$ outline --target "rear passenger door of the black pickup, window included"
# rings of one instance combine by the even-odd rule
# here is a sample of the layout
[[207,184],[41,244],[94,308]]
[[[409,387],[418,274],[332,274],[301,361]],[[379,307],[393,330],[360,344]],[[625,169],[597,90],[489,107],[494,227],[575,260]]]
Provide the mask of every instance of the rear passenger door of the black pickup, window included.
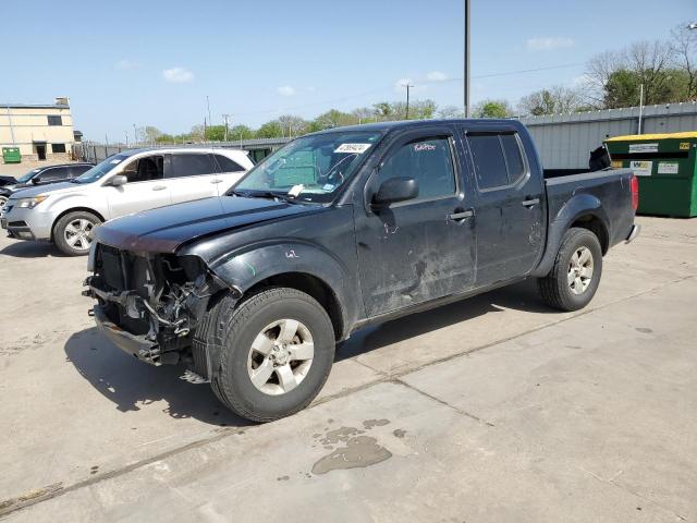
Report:
[[542,250],[542,180],[514,129],[466,133],[477,199],[477,287],[527,275]]

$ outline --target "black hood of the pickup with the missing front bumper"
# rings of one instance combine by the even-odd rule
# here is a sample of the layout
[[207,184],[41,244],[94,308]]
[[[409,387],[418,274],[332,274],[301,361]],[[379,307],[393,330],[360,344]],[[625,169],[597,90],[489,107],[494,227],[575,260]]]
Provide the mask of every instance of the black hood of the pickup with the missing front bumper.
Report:
[[95,238],[125,251],[173,253],[185,242],[209,234],[316,209],[273,199],[222,196],[117,218],[96,228]]

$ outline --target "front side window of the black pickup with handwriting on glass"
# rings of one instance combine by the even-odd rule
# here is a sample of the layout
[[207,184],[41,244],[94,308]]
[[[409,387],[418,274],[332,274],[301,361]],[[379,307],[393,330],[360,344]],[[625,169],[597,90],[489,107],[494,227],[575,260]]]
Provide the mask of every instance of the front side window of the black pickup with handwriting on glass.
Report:
[[416,200],[454,195],[457,190],[448,137],[419,138],[393,151],[378,171],[378,186],[391,178],[413,178]]

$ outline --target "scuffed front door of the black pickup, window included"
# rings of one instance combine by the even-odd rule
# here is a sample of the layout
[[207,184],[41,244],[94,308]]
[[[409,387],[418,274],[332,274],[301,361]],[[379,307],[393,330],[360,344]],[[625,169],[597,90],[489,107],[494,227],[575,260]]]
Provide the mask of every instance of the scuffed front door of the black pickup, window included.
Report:
[[360,288],[368,317],[455,294],[474,283],[469,196],[449,127],[412,132],[389,148],[366,184],[418,183],[416,199],[381,210],[356,208]]

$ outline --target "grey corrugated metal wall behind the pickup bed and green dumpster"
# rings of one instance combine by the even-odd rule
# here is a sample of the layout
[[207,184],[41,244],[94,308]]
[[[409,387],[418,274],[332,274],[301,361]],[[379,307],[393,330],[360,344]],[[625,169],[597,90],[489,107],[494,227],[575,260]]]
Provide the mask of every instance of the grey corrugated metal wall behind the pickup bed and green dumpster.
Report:
[[[636,134],[639,108],[524,117],[546,169],[585,169],[589,153],[602,141]],[[643,133],[697,131],[697,102],[648,106],[644,108]]]

